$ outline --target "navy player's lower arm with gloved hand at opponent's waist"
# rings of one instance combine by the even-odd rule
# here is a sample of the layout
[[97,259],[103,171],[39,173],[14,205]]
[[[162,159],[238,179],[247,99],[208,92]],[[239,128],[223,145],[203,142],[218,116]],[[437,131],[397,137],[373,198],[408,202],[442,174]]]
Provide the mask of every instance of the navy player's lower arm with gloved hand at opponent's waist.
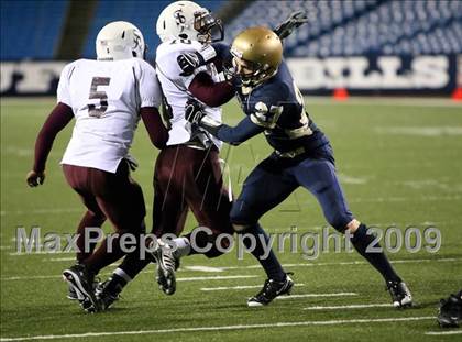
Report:
[[194,99],[189,99],[186,103],[185,117],[190,123],[201,126],[210,134],[231,145],[239,145],[264,131],[264,128],[253,123],[249,117],[233,128],[222,124],[207,117],[200,103]]

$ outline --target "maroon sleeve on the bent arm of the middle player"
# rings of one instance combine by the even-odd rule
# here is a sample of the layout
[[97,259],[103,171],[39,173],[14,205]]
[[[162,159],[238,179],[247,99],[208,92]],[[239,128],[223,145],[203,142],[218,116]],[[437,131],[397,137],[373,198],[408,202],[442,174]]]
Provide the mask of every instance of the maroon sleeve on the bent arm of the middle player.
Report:
[[215,82],[207,73],[199,73],[189,85],[188,90],[195,98],[209,107],[220,107],[234,97],[234,87],[228,82]]

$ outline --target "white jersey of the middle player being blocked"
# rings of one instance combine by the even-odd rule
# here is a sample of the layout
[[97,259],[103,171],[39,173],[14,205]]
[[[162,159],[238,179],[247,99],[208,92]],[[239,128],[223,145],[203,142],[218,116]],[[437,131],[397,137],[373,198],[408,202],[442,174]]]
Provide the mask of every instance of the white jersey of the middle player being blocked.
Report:
[[[158,80],[162,85],[162,91],[166,98],[167,104],[170,108],[169,121],[170,130],[168,131],[167,145],[183,144],[197,135],[199,132],[191,132],[190,124],[185,119],[186,101],[193,95],[188,91],[195,75],[200,71],[208,73],[215,81],[222,81],[223,78],[217,73],[213,64],[204,66],[195,71],[191,76],[182,76],[182,68],[178,66],[177,57],[185,52],[197,52],[202,49],[199,42],[188,40],[175,40],[164,42],[157,47],[156,52],[156,71]],[[215,120],[221,122],[221,109],[205,107],[206,113]],[[204,132],[204,131],[202,131]],[[217,146],[221,147],[221,141],[208,136],[205,133],[198,135],[211,140]],[[202,139],[201,139],[202,140]]]

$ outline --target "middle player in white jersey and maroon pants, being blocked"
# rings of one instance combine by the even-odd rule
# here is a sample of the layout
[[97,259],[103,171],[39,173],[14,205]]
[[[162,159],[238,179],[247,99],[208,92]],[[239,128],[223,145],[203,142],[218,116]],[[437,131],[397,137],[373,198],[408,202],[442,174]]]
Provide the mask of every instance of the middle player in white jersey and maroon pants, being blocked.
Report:
[[[157,35],[162,44],[156,51],[156,73],[164,93],[166,118],[169,125],[167,146],[157,157],[154,172],[153,233],[162,236],[166,233],[179,235],[184,229],[188,208],[200,227],[207,227],[211,234],[204,231],[191,233],[174,240],[176,251],[168,247],[157,249],[154,256],[157,261],[157,283],[165,294],[175,293],[175,267],[180,256],[201,253],[216,257],[222,253],[215,241],[219,233],[232,234],[229,220],[231,200],[223,186],[219,162],[221,142],[202,130],[194,130],[185,119],[185,104],[190,96],[202,102],[212,103],[215,98],[234,96],[232,86],[224,81],[220,60],[207,64],[195,75],[186,76],[177,64],[177,57],[188,52],[200,52],[207,59],[215,57],[216,52],[210,43],[222,38],[222,27],[208,10],[191,1],[177,1],[167,5],[156,23]],[[208,56],[208,53],[212,56]],[[217,68],[218,66],[218,68]],[[200,80],[200,82],[198,81]],[[217,86],[213,92],[207,82]],[[221,100],[221,99],[220,99]],[[208,115],[221,121],[221,109],[206,107]],[[191,235],[195,235],[191,244]],[[211,250],[202,253],[198,250],[212,243]],[[223,247],[228,240],[223,240]],[[195,245],[198,250],[195,249]],[[156,254],[158,253],[158,254]],[[148,260],[139,261],[138,266],[127,265],[120,268],[133,278],[147,264]],[[131,271],[127,271],[130,266]],[[136,273],[132,273],[138,267]],[[112,275],[105,282],[103,301],[110,305],[118,298],[125,279]],[[114,290],[116,289],[116,290]]]

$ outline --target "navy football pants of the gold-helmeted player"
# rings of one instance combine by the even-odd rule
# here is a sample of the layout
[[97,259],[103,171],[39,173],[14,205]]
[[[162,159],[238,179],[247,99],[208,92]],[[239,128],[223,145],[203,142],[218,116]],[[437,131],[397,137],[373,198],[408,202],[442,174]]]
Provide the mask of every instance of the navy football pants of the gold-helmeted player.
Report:
[[241,225],[256,223],[299,186],[315,195],[329,224],[343,232],[353,214],[337,177],[329,144],[298,163],[274,154],[260,163],[244,181],[242,192],[232,207],[231,221]]

